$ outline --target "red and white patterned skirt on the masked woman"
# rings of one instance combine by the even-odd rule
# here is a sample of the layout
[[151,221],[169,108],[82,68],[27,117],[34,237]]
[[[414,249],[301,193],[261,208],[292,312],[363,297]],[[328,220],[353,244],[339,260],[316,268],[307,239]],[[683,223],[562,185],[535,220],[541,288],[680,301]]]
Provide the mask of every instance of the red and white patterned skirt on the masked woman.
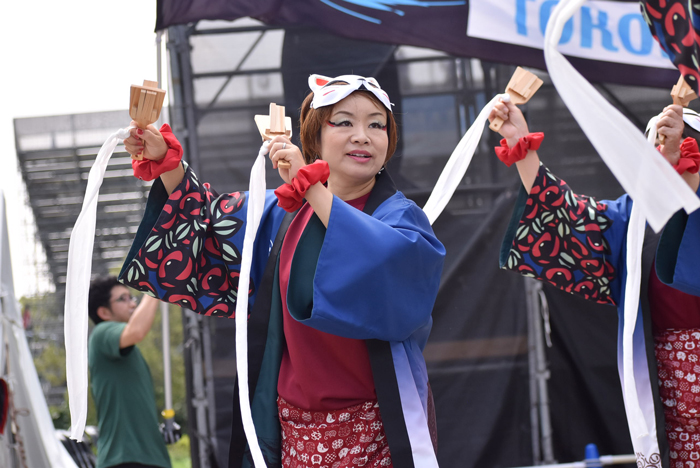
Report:
[[393,467],[377,401],[306,411],[277,399],[285,468]]

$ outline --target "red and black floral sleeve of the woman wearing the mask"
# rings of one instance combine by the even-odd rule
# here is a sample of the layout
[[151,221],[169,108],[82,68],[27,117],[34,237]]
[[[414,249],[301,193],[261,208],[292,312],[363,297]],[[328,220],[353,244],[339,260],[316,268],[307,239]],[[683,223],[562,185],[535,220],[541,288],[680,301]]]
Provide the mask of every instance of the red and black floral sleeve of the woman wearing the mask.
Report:
[[[269,191],[253,253],[251,304],[284,215],[276,201]],[[156,179],[119,279],[199,314],[232,317],[246,212],[245,192],[218,195],[189,168],[170,196]]]

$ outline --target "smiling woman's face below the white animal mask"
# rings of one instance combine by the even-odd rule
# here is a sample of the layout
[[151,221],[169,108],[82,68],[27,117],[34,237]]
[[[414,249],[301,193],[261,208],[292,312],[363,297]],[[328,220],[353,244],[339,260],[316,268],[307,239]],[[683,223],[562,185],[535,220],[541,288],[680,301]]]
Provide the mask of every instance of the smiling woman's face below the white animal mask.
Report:
[[321,127],[321,159],[328,163],[331,185],[366,184],[384,165],[389,146],[386,109],[353,93],[333,106]]

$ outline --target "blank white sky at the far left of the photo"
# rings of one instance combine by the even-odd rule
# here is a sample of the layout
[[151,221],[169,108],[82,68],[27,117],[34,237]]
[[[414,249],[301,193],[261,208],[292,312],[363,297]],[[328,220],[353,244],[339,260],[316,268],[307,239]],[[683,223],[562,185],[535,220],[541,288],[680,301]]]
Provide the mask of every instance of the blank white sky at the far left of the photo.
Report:
[[13,119],[125,109],[132,84],[156,80],[156,1],[8,1],[0,13],[0,190],[21,297],[48,284],[36,268],[42,252],[19,173]]

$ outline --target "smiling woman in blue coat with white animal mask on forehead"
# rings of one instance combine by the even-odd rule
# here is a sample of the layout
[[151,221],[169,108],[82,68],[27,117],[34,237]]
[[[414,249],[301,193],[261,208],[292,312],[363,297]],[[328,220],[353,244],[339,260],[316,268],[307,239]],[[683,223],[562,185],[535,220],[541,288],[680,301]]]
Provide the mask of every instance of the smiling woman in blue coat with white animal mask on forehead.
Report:
[[[309,84],[303,151],[285,136],[270,142],[284,184],[266,195],[252,254],[248,364],[260,448],[274,466],[436,467],[422,350],[445,251],[383,170],[397,134],[379,83],[313,75]],[[161,175],[121,279],[231,317],[248,194],[201,184],[179,162],[169,127],[133,130],[124,144],[135,154],[143,141],[135,167]],[[233,405],[229,460],[242,466],[250,451],[237,396]]]

